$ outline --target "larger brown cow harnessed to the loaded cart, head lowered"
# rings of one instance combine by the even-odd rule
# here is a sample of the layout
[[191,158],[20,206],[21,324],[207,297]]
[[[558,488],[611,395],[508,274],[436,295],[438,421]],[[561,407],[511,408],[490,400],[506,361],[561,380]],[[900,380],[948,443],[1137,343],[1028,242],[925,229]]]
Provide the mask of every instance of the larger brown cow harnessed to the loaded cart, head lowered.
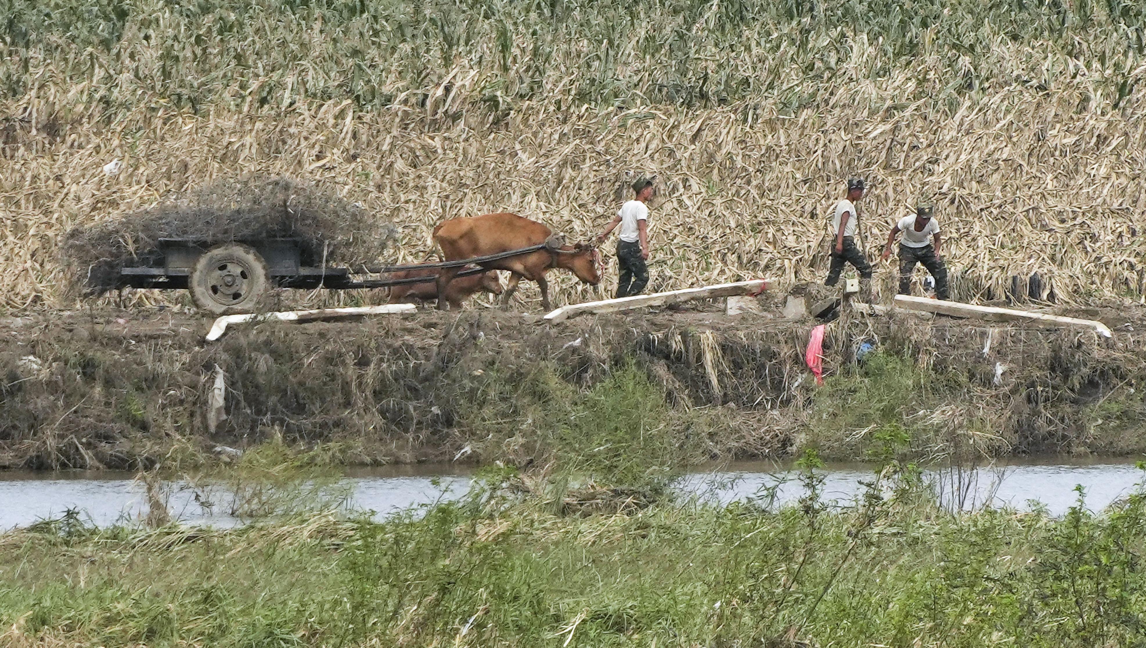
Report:
[[[441,248],[446,260],[485,257],[510,250],[520,250],[540,245],[552,236],[552,231],[544,225],[521,218],[516,213],[487,213],[472,218],[454,218],[441,222],[433,229],[433,240]],[[558,267],[571,271],[581,281],[596,286],[601,283],[601,256],[592,245],[562,245],[556,250],[542,249],[505,257],[480,264],[488,270],[504,270],[511,273],[509,289],[502,296],[502,304],[509,305],[517,283],[521,279],[536,281],[541,288],[541,306],[550,310],[549,284],[545,282],[545,271]],[[447,268],[438,275],[438,290],[441,291],[458,268]],[[438,302],[438,307],[445,305]]]

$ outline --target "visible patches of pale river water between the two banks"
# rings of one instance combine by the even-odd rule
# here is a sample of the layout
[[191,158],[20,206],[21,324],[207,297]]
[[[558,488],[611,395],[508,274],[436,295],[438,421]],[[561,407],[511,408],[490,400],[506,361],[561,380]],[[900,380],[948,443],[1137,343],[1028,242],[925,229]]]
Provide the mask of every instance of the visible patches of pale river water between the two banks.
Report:
[[[834,464],[823,471],[823,498],[847,505],[872,481],[870,467]],[[1125,497],[1144,481],[1132,461],[1026,461],[965,470],[928,471],[941,500],[949,507],[1010,506],[1019,510],[1045,508],[1061,515],[1075,505],[1075,486],[1085,492],[1086,508],[1099,512]],[[452,466],[386,467],[347,471],[342,483],[347,506],[384,518],[411,507],[457,499],[469,489],[464,469]],[[685,494],[713,503],[774,498],[785,503],[803,494],[791,464],[743,462],[698,471],[682,478]],[[163,498],[173,518],[189,524],[230,526],[241,520],[226,493],[203,497],[203,490],[168,483]],[[204,500],[213,500],[204,506]],[[143,484],[124,473],[0,471],[0,530],[61,517],[69,509],[80,520],[101,526],[133,523],[147,515]]]

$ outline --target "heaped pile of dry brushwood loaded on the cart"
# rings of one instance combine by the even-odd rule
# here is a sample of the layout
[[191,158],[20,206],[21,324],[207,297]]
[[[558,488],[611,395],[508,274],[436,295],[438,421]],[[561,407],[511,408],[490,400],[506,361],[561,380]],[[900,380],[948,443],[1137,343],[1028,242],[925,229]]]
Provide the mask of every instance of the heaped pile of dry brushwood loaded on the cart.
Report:
[[375,265],[398,231],[308,182],[286,178],[231,178],[179,200],[124,218],[77,227],[62,256],[73,288],[102,294],[120,288],[121,267],[158,261],[159,239],[199,239],[207,244],[270,237],[298,239],[304,260]]

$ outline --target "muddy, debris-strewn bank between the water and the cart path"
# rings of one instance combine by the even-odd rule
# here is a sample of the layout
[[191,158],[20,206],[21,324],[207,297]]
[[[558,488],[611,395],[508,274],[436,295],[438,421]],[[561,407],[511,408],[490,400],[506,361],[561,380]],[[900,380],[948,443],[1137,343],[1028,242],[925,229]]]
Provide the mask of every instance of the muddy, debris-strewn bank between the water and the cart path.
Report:
[[[273,438],[350,464],[1133,454],[1146,450],[1146,317],[1105,314],[1107,342],[846,317],[829,327],[818,388],[803,365],[811,322],[715,311],[556,326],[421,311],[235,327],[213,344],[209,320],[171,310],[42,314],[0,325],[0,464],[183,466]],[[864,341],[877,352],[861,365]],[[215,367],[227,417],[212,432]]]

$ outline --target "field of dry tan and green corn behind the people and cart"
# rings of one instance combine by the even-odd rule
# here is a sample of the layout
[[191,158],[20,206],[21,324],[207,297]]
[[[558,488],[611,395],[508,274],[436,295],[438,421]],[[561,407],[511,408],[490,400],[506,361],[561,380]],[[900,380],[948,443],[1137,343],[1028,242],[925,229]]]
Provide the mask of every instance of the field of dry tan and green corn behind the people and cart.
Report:
[[586,240],[656,173],[652,290],[822,275],[861,175],[870,253],[936,203],[957,297],[1035,271],[1137,296],[1144,25],[1137,0],[9,0],[0,309],[58,303],[69,228],[249,173],[393,219],[387,261],[488,211]]

